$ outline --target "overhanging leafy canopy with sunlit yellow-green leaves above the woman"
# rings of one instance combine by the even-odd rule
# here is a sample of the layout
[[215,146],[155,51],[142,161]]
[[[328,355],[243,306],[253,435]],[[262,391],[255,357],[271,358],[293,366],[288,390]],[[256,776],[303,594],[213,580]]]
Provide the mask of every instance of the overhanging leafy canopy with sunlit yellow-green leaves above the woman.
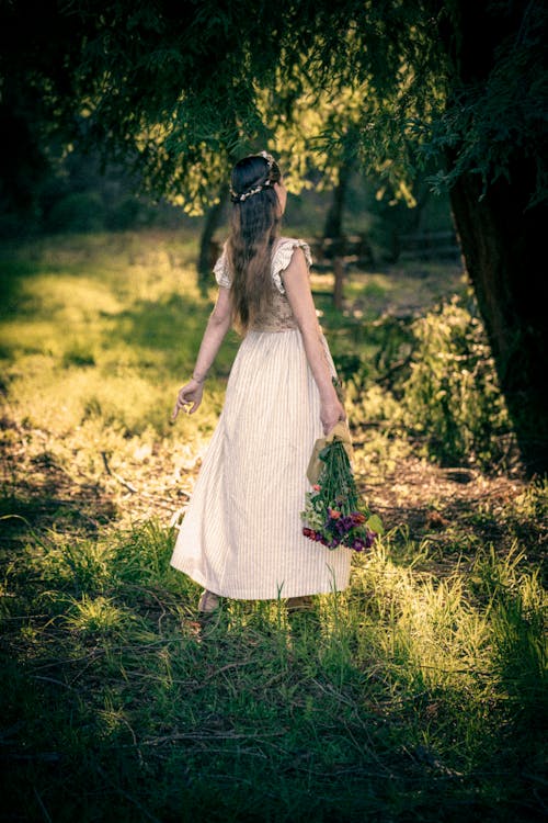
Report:
[[249,0],[116,0],[100,13],[78,0],[38,11],[23,21],[5,4],[1,20],[4,101],[18,101],[27,142],[38,154],[49,133],[69,148],[98,145],[190,210],[217,198],[237,155],[267,143],[294,188],[311,166],[333,181],[355,158],[408,200],[420,162],[435,161],[439,185],[447,149],[450,182],[466,170],[504,174],[523,148],[544,196],[539,0],[488,9],[507,35],[484,84],[459,80],[461,10],[452,0],[260,10]]

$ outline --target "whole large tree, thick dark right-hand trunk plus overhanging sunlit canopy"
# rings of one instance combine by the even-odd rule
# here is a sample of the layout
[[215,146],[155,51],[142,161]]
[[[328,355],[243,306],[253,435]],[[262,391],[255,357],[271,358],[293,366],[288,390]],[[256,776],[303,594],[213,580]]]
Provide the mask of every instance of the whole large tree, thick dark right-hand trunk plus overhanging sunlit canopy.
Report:
[[25,91],[65,140],[129,157],[189,208],[215,201],[230,158],[288,134],[304,109],[308,138],[299,128],[279,147],[289,181],[310,157],[336,157],[339,121],[322,112],[345,95],[340,123],[364,171],[397,189],[436,162],[524,460],[548,470],[541,0],[73,0],[39,14],[55,29],[33,26],[28,45],[14,4],[2,10],[3,98]]

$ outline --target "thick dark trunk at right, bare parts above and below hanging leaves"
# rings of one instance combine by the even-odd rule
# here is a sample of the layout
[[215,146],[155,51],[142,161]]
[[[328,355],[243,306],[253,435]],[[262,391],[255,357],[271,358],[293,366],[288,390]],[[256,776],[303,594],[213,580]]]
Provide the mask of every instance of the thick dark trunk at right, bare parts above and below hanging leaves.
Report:
[[[522,36],[532,5],[453,3],[456,31],[439,34],[457,89],[487,82],[498,49]],[[548,472],[548,215],[544,204],[527,207],[535,191],[528,148],[514,146],[506,179],[491,183],[481,200],[479,176],[464,173],[450,202],[524,465],[534,474]]]

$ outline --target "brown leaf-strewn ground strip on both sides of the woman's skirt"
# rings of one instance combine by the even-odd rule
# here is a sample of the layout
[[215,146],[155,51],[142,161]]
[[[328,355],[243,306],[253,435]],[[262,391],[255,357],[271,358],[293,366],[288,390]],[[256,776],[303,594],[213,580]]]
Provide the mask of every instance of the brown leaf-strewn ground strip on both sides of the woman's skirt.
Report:
[[[158,451],[145,461],[126,461],[124,475],[109,459],[95,477],[75,476],[44,448],[28,449],[46,432],[28,430],[11,420],[2,421],[1,480],[3,520],[0,548],[28,539],[28,529],[39,541],[44,530],[93,537],[107,523],[142,522],[156,518],[163,526],[180,516],[199,460],[186,467],[186,483],[173,476],[172,455]],[[361,478],[358,478],[361,481]],[[390,474],[363,485],[369,506],[388,530],[402,528],[418,544],[429,544],[429,554],[443,574],[461,555],[473,555],[480,544],[506,552],[521,539],[529,560],[546,557],[548,526],[529,510],[520,517],[516,499],[527,489],[520,477],[486,476],[470,469],[443,469],[416,456],[397,461]],[[510,522],[510,526],[509,526]]]

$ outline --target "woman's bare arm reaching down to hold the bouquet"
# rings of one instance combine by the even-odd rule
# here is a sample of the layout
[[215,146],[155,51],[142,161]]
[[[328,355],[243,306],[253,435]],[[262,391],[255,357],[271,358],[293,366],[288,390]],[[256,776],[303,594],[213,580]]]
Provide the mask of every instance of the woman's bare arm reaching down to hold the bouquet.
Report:
[[294,250],[292,261],[283,273],[283,280],[287,300],[302,335],[308,364],[320,393],[320,417],[327,435],[339,420],[346,419],[346,414],[333,386],[323,336],[310,291],[308,267],[301,248]]

